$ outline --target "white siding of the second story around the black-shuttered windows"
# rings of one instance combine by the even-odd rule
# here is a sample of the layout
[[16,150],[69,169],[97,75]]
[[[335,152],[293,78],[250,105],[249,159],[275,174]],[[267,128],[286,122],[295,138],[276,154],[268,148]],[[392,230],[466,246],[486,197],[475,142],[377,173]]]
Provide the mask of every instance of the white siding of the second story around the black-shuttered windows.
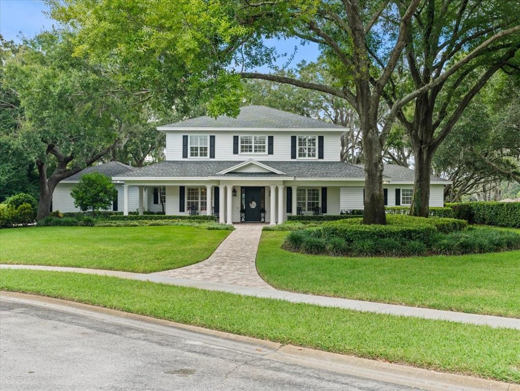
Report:
[[[316,135],[323,136],[323,160],[340,161],[340,134],[341,132],[309,133],[298,131],[272,131],[272,132],[197,132],[197,131],[170,131],[166,133],[166,160],[183,159],[183,135],[214,135],[215,136],[215,160],[291,160],[291,136]],[[233,155],[233,136],[240,135],[274,136],[273,155],[267,154],[238,154]],[[317,152],[316,152],[317,154]],[[192,160],[191,158],[189,160]],[[194,160],[207,160],[205,158]],[[317,158],[315,160],[318,160]],[[321,160],[321,159],[320,159]]]

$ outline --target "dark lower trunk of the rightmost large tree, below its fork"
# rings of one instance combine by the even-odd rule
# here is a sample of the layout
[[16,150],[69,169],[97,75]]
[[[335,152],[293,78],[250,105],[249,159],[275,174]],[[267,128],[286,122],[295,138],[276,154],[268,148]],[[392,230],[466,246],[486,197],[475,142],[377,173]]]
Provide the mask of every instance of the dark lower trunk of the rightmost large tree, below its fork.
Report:
[[415,178],[410,216],[428,217],[430,215],[430,178],[433,148],[421,145],[414,148]]

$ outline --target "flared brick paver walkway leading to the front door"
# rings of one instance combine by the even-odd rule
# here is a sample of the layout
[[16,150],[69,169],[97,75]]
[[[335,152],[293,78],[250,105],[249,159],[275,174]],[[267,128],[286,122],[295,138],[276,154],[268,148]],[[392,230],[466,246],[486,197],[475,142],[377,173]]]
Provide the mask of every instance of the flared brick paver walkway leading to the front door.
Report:
[[205,261],[185,268],[152,274],[179,279],[274,289],[262,280],[256,272],[256,250],[263,226],[263,224],[254,223],[237,224],[236,230],[231,232]]

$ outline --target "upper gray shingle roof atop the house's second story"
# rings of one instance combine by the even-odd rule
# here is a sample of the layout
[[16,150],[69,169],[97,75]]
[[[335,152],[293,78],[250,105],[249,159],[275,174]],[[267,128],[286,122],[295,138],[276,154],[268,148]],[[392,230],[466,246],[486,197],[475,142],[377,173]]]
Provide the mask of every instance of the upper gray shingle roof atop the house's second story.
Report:
[[168,123],[158,127],[167,128],[265,128],[265,129],[337,129],[345,127],[314,118],[300,116],[291,112],[267,106],[244,106],[237,118],[222,116],[218,118],[203,116],[184,121]]

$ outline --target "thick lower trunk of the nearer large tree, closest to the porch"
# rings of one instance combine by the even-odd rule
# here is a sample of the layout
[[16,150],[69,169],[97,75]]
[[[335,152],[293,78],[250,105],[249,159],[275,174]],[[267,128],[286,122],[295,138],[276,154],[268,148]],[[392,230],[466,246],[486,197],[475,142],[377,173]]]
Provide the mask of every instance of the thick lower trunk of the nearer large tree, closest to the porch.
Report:
[[[375,126],[375,125],[374,125]],[[377,134],[377,129],[372,129]],[[379,137],[363,137],[365,153],[365,207],[363,224],[386,224],[383,192],[383,156]]]

